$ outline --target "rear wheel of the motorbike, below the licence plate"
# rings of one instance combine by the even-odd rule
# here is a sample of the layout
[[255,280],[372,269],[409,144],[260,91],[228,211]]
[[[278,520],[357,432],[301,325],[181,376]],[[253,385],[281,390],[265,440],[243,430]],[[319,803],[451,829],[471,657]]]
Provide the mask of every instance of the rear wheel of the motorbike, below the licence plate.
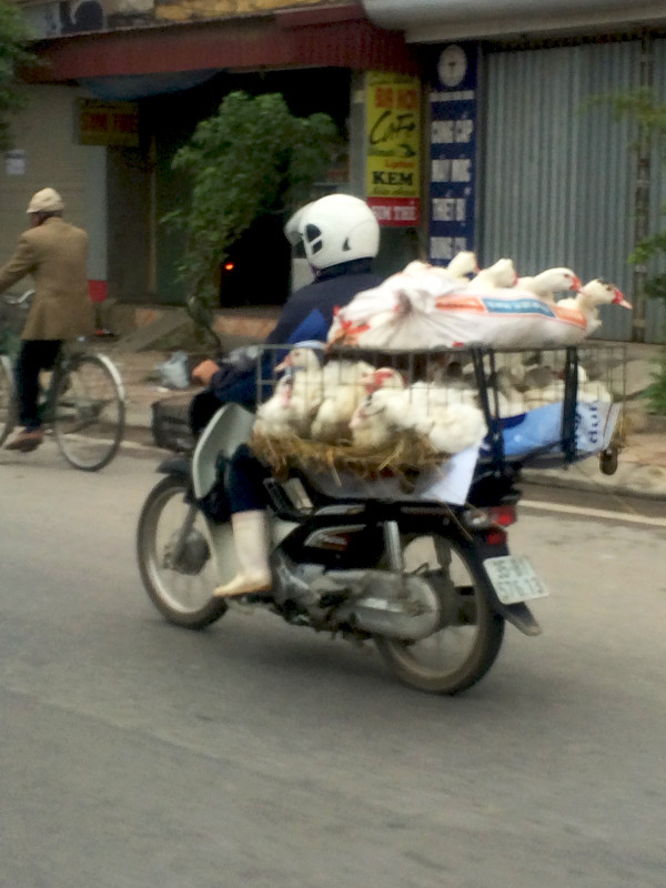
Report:
[[440,628],[417,642],[375,637],[395,676],[432,694],[457,694],[491,668],[504,638],[504,617],[492,609],[488,581],[473,544],[441,535],[403,537],[405,571],[432,577]]

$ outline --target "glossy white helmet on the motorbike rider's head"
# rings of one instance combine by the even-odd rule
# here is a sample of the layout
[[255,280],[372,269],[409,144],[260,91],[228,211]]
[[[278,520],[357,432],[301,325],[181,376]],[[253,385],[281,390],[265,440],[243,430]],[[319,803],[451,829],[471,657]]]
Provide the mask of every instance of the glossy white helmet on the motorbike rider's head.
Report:
[[303,241],[313,269],[330,269],[353,259],[372,259],[380,250],[380,225],[370,206],[351,194],[326,194],[305,204],[284,228],[292,244]]

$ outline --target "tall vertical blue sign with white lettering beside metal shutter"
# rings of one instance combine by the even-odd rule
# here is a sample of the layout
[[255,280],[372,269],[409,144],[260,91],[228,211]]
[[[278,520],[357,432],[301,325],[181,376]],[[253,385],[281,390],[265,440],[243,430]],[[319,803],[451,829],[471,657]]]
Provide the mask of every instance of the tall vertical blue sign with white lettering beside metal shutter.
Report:
[[474,250],[477,47],[440,48],[432,75],[430,261]]

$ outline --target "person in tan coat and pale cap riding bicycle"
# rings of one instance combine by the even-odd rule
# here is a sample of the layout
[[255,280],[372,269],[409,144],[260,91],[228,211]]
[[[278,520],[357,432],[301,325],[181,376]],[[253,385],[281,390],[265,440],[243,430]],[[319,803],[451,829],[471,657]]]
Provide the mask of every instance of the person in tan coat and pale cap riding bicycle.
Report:
[[43,438],[38,412],[40,371],[53,366],[62,342],[94,330],[88,293],[88,234],[63,221],[63,209],[62,198],[52,188],[33,194],[27,211],[30,229],[0,269],[0,293],[27,274],[34,280],[14,369],[23,431],[6,445],[22,453],[39,447]]

